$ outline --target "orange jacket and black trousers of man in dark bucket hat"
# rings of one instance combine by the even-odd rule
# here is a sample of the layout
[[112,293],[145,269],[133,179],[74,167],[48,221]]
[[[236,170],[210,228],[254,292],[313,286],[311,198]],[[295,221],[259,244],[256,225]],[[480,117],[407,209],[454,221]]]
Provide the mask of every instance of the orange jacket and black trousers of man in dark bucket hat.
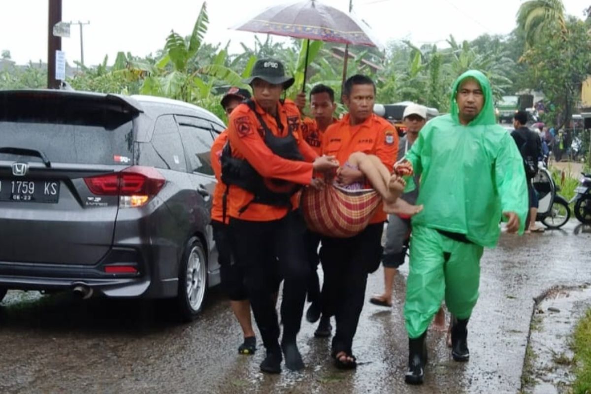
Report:
[[[230,115],[228,139],[232,158],[245,160],[267,181],[272,179],[293,185],[310,184],[313,172],[311,162],[317,154],[301,136],[300,112],[296,105],[290,101],[278,103],[275,117],[255,102],[251,104],[254,109],[243,103]],[[275,154],[265,142],[267,132],[271,132],[274,138],[293,138],[293,146],[302,160],[286,159]],[[298,193],[294,193],[290,201],[282,205],[259,203],[255,197],[255,194],[237,184],[229,185],[230,240],[233,256],[245,270],[245,285],[263,343],[267,351],[280,351],[277,312],[269,296],[272,270],[265,256],[273,253],[277,257],[275,264],[278,264],[279,273],[284,278],[282,340],[295,341],[300,330],[309,273],[303,246],[305,225],[296,210]]]

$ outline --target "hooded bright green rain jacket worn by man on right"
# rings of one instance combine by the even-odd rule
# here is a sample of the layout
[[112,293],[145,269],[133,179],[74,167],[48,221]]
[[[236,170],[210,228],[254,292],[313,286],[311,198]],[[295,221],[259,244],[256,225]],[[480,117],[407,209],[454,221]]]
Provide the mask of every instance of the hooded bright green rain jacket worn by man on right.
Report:
[[[469,77],[480,83],[485,102],[478,116],[463,126],[456,92]],[[413,226],[464,234],[492,248],[502,212],[512,211],[523,232],[528,211],[523,161],[511,135],[496,124],[491,84],[480,71],[467,71],[456,80],[451,113],[427,122],[406,158],[421,176],[417,204],[424,205]]]

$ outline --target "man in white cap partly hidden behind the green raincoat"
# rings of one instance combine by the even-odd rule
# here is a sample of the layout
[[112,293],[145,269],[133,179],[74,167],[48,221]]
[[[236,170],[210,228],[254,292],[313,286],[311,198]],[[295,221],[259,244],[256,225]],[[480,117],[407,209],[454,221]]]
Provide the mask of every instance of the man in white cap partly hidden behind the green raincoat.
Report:
[[[418,132],[421,131],[427,121],[427,108],[418,104],[408,105],[404,109],[402,118],[407,132],[398,142],[398,160],[404,157],[406,152],[417,140]],[[415,180],[415,184],[418,185],[418,180]],[[407,203],[414,205],[417,202],[417,196],[418,188],[402,194],[401,198]],[[388,216],[386,244],[384,246],[384,254],[382,255],[382,265],[384,265],[384,294],[376,295],[369,299],[369,302],[372,304],[382,307],[392,306],[394,276],[398,272],[398,267],[404,263],[410,232],[410,216],[402,214]]]

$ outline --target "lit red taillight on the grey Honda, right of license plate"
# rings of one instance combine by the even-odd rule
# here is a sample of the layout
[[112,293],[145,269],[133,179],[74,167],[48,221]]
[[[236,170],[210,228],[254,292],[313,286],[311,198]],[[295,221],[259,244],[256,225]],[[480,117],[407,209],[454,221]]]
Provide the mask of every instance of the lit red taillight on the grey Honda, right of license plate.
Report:
[[96,196],[119,196],[119,207],[122,208],[144,206],[166,182],[154,168],[138,165],[114,174],[85,178],[84,181]]

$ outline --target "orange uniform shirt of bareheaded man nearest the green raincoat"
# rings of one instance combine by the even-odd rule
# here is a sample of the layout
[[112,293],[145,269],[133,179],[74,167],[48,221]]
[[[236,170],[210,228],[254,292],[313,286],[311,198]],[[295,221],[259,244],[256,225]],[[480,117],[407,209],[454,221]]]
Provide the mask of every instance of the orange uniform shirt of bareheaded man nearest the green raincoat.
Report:
[[[392,172],[398,155],[398,133],[385,119],[372,114],[365,122],[351,126],[349,115],[333,123],[324,132],[322,153],[334,155],[344,165],[353,152],[375,155]],[[387,218],[382,206],[378,208],[369,223],[385,222]]]

